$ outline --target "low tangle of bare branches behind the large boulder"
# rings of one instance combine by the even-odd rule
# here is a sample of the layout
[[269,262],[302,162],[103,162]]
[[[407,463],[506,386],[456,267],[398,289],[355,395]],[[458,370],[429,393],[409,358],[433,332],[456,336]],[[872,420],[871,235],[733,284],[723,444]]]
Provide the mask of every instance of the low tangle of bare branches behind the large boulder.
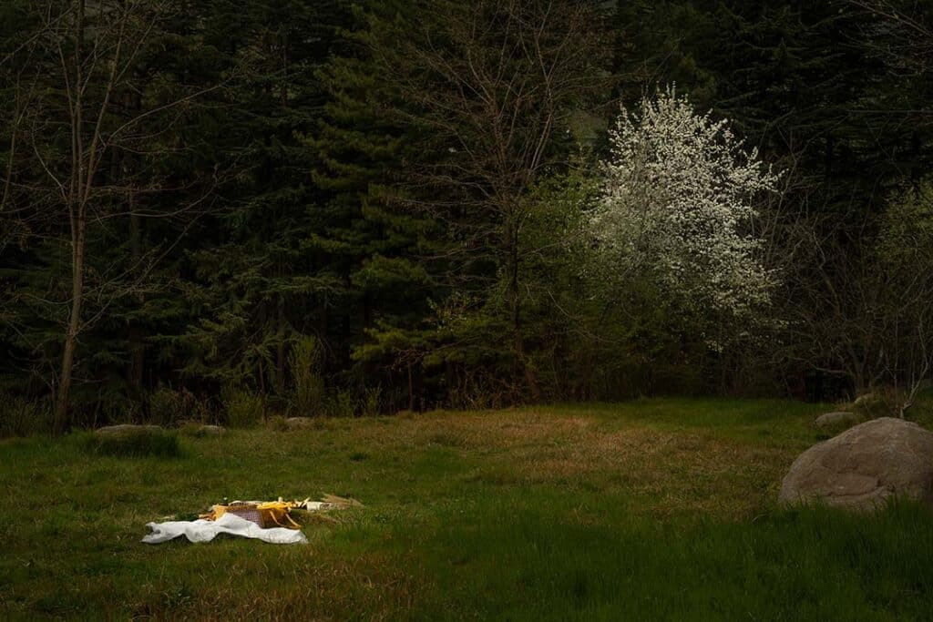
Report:
[[[898,389],[903,414],[933,371],[933,190],[895,195],[859,228],[813,217],[794,280],[789,332],[803,361],[851,380],[855,394]],[[825,217],[824,217],[825,219]]]

